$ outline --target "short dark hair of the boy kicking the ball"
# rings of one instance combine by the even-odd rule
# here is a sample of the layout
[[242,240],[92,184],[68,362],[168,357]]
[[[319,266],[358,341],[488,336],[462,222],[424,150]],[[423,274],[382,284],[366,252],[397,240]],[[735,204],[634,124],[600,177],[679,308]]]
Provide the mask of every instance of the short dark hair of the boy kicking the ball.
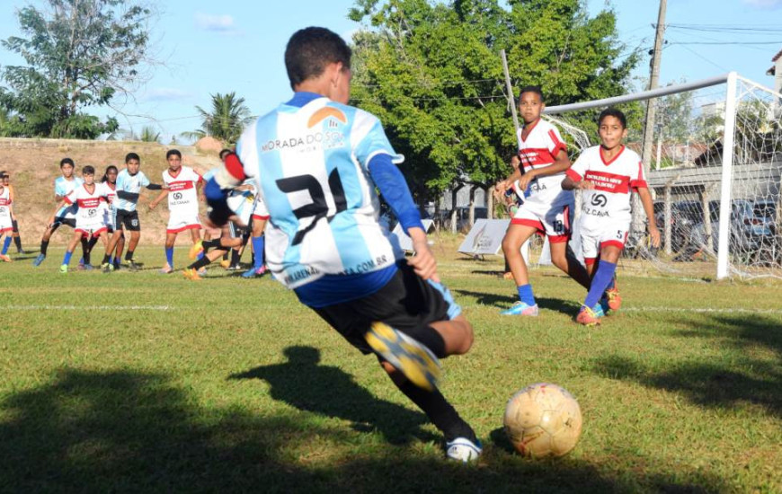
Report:
[[285,48],[290,87],[323,74],[328,64],[342,62],[344,68],[351,68],[351,54],[345,40],[333,31],[308,27],[294,32]]

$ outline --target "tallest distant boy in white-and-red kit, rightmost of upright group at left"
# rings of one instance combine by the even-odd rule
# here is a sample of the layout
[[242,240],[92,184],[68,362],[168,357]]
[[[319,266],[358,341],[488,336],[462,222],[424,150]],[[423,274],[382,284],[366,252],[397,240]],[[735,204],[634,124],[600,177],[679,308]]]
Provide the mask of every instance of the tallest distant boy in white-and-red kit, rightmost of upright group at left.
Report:
[[168,227],[165,230],[165,260],[161,273],[173,271],[173,244],[176,235],[185,230],[191,231],[192,243],[200,241],[199,190],[203,184],[201,176],[190,166],[182,166],[182,153],[169,149],[165,154],[168,169],[163,172],[163,181],[167,188],[151,203],[150,209],[168,197]]

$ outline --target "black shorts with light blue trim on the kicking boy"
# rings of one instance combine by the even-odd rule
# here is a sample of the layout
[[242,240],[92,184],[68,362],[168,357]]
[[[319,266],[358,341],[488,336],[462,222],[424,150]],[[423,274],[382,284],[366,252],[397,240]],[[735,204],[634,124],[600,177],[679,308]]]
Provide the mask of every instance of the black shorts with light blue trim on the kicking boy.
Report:
[[363,354],[372,353],[364,340],[372,322],[408,332],[461,312],[447,288],[419,278],[406,262],[397,268],[394,278],[374,294],[313,310]]

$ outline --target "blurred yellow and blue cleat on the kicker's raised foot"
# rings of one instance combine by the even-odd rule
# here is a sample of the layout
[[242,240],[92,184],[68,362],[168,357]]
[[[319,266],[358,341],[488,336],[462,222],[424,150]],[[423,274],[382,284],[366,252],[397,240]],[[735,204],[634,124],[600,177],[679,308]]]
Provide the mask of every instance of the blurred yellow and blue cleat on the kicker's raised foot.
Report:
[[429,348],[383,322],[373,322],[364,335],[369,347],[413,384],[434,391],[442,375],[440,360]]

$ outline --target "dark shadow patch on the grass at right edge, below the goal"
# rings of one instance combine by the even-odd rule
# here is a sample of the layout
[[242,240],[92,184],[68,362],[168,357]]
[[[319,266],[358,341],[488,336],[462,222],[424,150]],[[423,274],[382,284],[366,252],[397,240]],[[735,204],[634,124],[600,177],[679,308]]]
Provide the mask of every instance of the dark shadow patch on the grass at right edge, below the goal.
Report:
[[612,379],[683,393],[699,405],[732,407],[742,402],[754,403],[782,417],[782,367],[778,362],[753,358],[751,351],[744,351],[751,347],[767,348],[782,358],[782,324],[761,316],[712,316],[705,322],[686,324],[691,329],[679,331],[681,336],[726,340],[728,345],[742,350],[740,357],[726,358],[724,363],[715,359],[685,362],[662,371],[630,358],[608,357],[597,360],[593,370]]

